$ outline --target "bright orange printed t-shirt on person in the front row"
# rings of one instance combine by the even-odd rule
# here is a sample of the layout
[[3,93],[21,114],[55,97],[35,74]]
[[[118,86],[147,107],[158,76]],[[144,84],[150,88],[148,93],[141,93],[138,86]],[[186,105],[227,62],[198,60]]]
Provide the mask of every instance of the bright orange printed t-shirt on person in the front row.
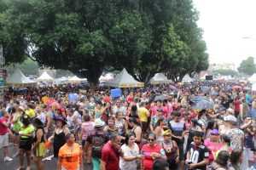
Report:
[[73,144],[73,151],[69,149],[67,144],[64,144],[59,151],[59,156],[62,158],[61,167],[64,167],[68,170],[77,170],[80,163],[79,144]]

